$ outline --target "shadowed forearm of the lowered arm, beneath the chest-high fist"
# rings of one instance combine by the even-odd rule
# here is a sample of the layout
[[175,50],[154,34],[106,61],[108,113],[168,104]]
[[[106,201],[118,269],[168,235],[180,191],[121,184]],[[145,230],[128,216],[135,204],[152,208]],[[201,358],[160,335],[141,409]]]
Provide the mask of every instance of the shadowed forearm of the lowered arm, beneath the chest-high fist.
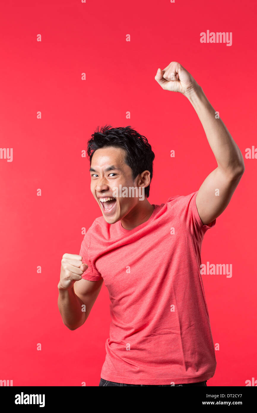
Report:
[[75,330],[85,322],[85,312],[82,311],[83,302],[75,294],[74,288],[64,290],[58,285],[58,308],[64,324],[70,329]]

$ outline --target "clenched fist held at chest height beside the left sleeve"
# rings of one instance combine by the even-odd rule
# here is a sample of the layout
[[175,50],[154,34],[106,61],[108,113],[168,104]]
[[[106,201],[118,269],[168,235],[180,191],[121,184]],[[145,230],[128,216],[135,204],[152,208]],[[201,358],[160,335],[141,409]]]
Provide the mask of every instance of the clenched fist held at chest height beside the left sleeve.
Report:
[[82,256],[76,254],[64,254],[61,260],[61,274],[58,288],[68,290],[73,287],[75,281],[82,278],[82,274],[88,268],[82,263]]

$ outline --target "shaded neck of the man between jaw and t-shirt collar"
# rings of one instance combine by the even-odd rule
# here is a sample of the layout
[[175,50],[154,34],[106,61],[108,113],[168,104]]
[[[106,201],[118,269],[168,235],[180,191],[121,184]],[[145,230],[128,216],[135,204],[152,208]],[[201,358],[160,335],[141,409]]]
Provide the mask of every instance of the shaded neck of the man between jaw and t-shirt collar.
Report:
[[139,201],[137,205],[120,220],[120,223],[125,230],[132,230],[146,222],[153,214],[153,210],[154,206],[145,198],[144,201]]

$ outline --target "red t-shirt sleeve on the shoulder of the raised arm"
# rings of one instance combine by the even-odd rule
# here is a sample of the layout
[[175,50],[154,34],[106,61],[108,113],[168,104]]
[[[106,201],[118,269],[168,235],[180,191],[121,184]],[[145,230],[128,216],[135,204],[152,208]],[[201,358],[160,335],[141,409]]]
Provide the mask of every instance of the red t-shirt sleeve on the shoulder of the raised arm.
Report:
[[[196,237],[201,238],[206,231],[213,228],[216,224],[216,219],[209,223],[209,225],[203,224],[196,207],[196,195],[198,191],[192,192],[189,195],[181,195],[175,197],[175,210],[180,215],[181,220],[184,222],[190,232]],[[169,198],[167,203],[174,198]]]

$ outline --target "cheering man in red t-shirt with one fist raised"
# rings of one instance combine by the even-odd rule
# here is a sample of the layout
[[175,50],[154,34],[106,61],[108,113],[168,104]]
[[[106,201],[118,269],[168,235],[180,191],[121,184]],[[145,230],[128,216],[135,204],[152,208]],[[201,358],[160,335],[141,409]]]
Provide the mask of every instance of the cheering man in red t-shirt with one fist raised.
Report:
[[[63,256],[58,306],[64,324],[75,330],[87,320],[104,280],[111,326],[99,386],[206,386],[216,368],[201,244],[243,175],[243,156],[181,64],[158,69],[155,79],[189,99],[217,168],[198,191],[152,205],[154,154],[147,139],[129,126],[108,126],[88,141],[91,192],[102,216],[87,231],[80,254]],[[140,197],[142,189],[146,197]]]

